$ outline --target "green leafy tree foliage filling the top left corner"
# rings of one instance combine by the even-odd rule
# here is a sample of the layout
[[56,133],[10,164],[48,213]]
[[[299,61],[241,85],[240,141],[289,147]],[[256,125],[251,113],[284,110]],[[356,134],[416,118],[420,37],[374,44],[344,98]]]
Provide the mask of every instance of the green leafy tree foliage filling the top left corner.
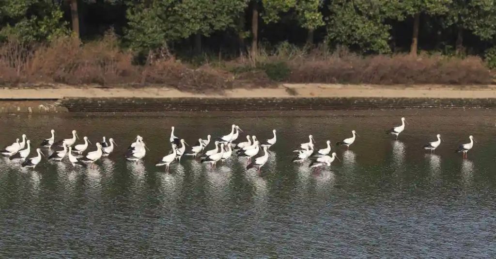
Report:
[[0,1],[0,37],[22,42],[50,40],[67,33],[60,4],[52,0]]

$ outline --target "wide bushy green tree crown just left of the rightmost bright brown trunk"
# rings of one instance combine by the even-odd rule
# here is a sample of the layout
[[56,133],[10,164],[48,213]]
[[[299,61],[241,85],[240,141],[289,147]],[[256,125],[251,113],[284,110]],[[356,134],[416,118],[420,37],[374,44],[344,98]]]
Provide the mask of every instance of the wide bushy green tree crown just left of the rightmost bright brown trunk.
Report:
[[333,0],[327,22],[327,39],[361,52],[387,53],[391,26],[388,18],[400,15],[398,5],[388,0]]

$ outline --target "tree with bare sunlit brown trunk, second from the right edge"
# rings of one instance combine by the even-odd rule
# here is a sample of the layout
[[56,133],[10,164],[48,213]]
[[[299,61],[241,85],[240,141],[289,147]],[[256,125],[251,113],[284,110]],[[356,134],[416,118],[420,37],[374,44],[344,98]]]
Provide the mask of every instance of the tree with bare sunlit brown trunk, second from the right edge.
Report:
[[421,14],[444,14],[448,11],[451,2],[452,0],[403,0],[400,2],[400,8],[403,10],[403,16],[399,17],[400,20],[405,17],[413,17],[410,54],[417,56]]

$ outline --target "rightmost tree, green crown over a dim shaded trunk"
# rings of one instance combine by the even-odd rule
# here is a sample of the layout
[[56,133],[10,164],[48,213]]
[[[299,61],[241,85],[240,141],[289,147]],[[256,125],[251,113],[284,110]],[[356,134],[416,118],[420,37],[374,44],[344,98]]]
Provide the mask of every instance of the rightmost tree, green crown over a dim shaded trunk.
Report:
[[446,27],[456,29],[456,54],[463,52],[465,30],[483,40],[496,35],[496,2],[494,0],[453,0],[446,13]]

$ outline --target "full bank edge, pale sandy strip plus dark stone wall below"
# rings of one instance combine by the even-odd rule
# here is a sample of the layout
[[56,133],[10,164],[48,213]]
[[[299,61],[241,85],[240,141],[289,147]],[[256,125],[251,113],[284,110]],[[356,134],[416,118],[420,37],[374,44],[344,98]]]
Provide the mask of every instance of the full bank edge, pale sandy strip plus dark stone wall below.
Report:
[[280,84],[222,93],[166,86],[0,88],[0,113],[496,108],[496,85]]

